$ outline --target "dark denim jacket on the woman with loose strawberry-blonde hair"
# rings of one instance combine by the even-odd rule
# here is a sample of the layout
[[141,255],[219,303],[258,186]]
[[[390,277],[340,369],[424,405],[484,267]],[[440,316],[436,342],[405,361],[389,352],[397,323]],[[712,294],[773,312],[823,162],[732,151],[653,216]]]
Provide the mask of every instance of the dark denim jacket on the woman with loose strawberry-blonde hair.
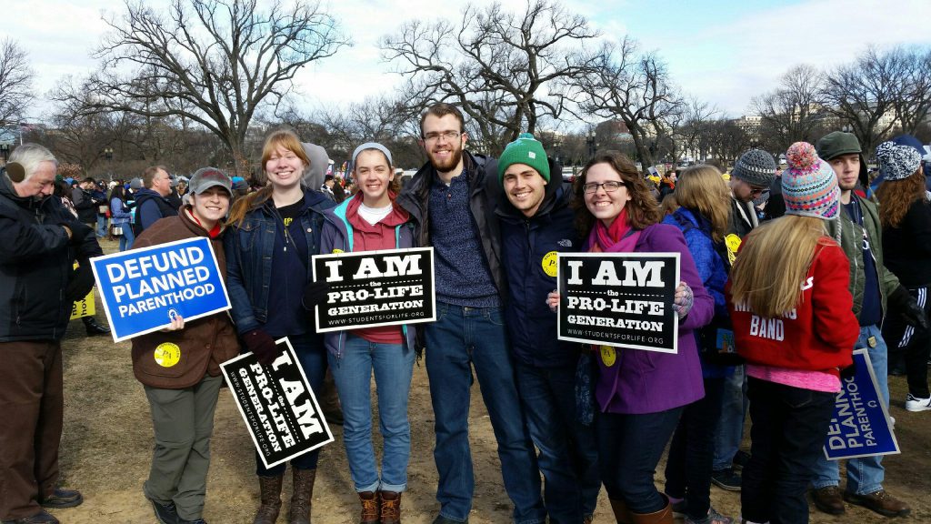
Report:
[[[307,266],[312,267],[311,256],[320,251],[323,212],[333,207],[335,202],[310,189],[304,189],[304,201],[309,207],[298,219],[307,237]],[[227,231],[223,240],[226,290],[238,333],[262,327],[268,320],[268,290],[272,285],[276,231],[276,219],[272,214],[274,205],[268,199],[250,209],[242,223]]]

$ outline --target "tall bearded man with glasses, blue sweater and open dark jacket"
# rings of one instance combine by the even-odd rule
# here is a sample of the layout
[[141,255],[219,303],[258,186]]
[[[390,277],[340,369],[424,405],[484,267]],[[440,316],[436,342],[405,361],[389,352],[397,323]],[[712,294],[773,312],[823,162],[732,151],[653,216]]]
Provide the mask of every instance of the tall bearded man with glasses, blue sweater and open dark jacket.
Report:
[[411,214],[415,243],[433,246],[436,257],[437,322],[424,327],[441,504],[434,524],[467,522],[472,508],[468,407],[473,367],[498,441],[514,521],[544,522],[540,474],[502,320],[505,283],[494,214],[501,192],[497,164],[463,150],[465,121],[448,103],[426,111],[421,134],[429,162],[397,202]]

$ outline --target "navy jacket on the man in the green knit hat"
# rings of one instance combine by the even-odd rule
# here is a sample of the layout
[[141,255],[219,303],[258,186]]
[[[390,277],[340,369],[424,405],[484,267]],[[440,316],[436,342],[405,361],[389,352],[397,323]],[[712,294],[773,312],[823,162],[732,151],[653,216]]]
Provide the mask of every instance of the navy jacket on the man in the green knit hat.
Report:
[[[578,344],[556,338],[556,313],[546,306],[546,295],[556,289],[556,252],[577,252],[582,239],[569,207],[572,191],[563,186],[560,170],[546,185],[546,196],[536,214],[527,218],[502,192],[497,207],[501,224],[502,266],[507,279],[505,324],[514,357],[524,365],[574,368]],[[547,256],[552,253],[553,255]]]

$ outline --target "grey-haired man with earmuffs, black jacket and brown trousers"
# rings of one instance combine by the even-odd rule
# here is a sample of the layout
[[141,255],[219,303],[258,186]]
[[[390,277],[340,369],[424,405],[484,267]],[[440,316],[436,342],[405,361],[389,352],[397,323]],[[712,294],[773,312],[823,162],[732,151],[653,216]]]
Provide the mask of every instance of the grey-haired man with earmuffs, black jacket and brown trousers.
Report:
[[[0,519],[58,522],[43,507],[81,494],[56,488],[61,442],[61,338],[75,298],[93,285],[93,229],[52,197],[58,162],[20,145],[0,174]],[[72,269],[77,259],[80,269]]]

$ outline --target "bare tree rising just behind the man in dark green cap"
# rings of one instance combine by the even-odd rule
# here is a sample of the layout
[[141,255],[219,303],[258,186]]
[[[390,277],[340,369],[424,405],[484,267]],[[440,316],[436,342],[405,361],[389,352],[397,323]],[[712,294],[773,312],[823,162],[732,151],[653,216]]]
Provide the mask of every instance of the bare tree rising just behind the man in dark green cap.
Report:
[[871,153],[895,126],[902,75],[897,53],[869,48],[855,62],[825,76],[822,93],[828,110],[850,126],[863,151]]

